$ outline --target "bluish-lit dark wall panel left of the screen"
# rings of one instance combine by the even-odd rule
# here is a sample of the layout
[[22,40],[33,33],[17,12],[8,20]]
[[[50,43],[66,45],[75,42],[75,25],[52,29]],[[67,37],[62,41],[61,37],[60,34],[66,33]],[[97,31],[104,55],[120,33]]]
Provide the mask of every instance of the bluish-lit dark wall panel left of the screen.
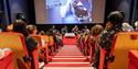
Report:
[[9,0],[11,22],[14,22],[17,13],[23,13],[29,20],[28,0]]

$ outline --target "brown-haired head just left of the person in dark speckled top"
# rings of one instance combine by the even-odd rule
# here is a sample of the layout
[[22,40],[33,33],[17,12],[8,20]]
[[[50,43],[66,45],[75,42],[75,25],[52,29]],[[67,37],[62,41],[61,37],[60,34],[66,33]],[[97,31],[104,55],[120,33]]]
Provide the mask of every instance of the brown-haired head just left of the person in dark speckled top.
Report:
[[95,25],[91,28],[91,33],[93,36],[97,36],[103,32],[104,27],[102,25]]

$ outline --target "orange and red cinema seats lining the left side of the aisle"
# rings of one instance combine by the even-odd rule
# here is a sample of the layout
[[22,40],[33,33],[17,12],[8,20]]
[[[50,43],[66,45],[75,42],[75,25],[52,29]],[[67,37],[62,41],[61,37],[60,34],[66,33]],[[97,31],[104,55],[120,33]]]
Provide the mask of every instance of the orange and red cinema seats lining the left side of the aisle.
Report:
[[[24,36],[20,33],[13,32],[2,32],[0,33],[0,48],[11,48],[13,50],[13,69],[39,69],[39,59],[40,57],[45,62],[50,61],[50,56],[56,49],[54,48],[54,39],[53,36],[46,35],[31,35],[38,43],[38,48],[35,48],[31,55],[33,59],[30,61],[30,56],[26,50],[26,45],[24,41]],[[44,44],[42,44],[42,39],[44,39]],[[52,46],[52,53],[50,53],[49,46]],[[7,68],[8,69],[8,68]]]

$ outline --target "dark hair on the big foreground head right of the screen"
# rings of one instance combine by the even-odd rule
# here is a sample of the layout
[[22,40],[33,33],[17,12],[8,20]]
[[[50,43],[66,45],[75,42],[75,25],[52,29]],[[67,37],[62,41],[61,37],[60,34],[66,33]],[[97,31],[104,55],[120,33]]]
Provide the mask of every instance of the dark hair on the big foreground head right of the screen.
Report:
[[107,20],[110,21],[114,25],[120,24],[124,21],[123,12],[119,11],[110,12],[109,15],[107,16]]

